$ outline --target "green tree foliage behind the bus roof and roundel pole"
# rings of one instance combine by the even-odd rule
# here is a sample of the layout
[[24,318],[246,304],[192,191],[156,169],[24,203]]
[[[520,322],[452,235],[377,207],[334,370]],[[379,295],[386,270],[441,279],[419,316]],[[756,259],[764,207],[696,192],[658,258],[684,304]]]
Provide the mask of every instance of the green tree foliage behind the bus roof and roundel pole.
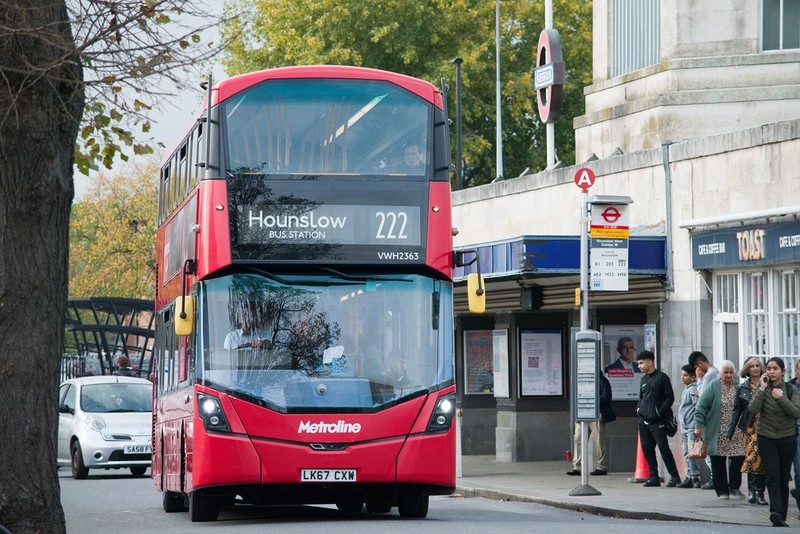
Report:
[[[455,67],[461,57],[465,183],[496,177],[495,2],[488,0],[234,0],[242,16],[223,26],[232,41],[229,74],[273,66],[351,64],[401,72],[449,85],[455,119]],[[503,167],[506,176],[547,165],[545,127],[538,117],[533,69],[544,2],[501,3]],[[574,163],[572,119],[583,113],[591,83],[592,3],[554,0],[566,65],[565,103],[556,123],[556,152]],[[455,146],[455,143],[453,143]]]

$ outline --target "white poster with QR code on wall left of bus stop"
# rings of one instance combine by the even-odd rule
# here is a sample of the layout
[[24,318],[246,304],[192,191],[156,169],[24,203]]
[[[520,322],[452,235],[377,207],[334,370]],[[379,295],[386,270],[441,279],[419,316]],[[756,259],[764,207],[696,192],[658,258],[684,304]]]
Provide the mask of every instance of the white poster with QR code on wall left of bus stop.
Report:
[[522,396],[564,395],[561,330],[520,330]]

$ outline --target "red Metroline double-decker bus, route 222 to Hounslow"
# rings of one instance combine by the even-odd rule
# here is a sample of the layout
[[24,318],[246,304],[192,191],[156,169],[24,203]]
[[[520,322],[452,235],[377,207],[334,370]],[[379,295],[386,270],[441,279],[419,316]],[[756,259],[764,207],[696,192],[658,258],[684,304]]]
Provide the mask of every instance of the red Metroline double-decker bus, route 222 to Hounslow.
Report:
[[341,66],[208,88],[160,175],[152,476],[166,512],[455,488],[448,123]]

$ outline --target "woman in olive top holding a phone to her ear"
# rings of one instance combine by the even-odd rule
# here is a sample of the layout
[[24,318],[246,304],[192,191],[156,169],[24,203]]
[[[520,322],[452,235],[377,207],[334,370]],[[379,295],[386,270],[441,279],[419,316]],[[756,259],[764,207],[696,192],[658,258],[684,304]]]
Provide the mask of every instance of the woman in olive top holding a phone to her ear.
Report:
[[772,526],[788,527],[789,469],[797,450],[796,421],[800,419],[800,394],[783,380],[786,365],[781,358],[767,360],[766,371],[753,392],[747,409],[758,415],[758,451],[764,462]]

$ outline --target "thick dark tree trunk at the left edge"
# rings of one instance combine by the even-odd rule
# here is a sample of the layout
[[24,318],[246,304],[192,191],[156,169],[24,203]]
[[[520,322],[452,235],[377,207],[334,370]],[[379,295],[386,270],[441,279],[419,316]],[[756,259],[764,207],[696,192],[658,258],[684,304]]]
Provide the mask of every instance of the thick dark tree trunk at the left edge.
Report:
[[0,524],[65,532],[56,468],[82,70],[64,0],[0,3]]

